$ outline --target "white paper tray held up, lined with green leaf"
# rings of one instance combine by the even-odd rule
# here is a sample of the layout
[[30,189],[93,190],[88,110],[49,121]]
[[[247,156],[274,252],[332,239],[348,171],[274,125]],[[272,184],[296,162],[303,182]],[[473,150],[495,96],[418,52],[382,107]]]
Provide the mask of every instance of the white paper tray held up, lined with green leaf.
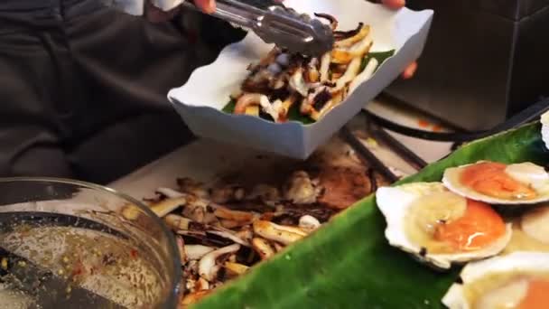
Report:
[[195,70],[181,88],[169,92],[172,105],[195,135],[304,159],[419,57],[433,17],[431,10],[391,11],[365,0],[287,0],[284,4],[298,12],[332,14],[339,20],[340,30],[355,29],[360,22],[370,24],[374,40],[372,52],[395,49],[395,55],[316,123],[276,124],[259,117],[221,111],[229,95],[239,89],[247,77],[248,64],[258,61],[273,47],[254,33],[248,33],[241,42],[225,48],[216,61]]

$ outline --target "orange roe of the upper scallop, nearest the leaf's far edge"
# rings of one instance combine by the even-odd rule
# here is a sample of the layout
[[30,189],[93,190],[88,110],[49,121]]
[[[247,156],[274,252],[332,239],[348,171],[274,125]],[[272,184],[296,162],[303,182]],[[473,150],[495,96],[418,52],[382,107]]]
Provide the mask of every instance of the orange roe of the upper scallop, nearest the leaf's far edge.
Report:
[[534,199],[536,192],[524,183],[519,183],[506,172],[507,165],[483,162],[465,167],[461,173],[461,183],[495,198],[504,200]]

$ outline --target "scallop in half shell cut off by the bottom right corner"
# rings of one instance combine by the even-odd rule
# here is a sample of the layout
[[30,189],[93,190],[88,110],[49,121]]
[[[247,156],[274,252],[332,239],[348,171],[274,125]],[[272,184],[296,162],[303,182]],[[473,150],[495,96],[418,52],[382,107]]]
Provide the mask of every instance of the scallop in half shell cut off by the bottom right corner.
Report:
[[450,309],[547,308],[549,253],[515,252],[472,262],[442,304]]

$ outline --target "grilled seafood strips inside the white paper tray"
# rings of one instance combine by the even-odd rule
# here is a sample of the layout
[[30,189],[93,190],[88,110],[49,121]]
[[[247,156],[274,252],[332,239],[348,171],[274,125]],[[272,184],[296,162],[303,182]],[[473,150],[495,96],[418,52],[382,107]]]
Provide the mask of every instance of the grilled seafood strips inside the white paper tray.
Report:
[[[337,20],[328,14],[332,29]],[[286,122],[290,110],[317,121],[349,96],[358,85],[369,80],[379,65],[368,57],[373,45],[371,28],[359,23],[354,30],[335,31],[330,52],[308,57],[275,47],[263,59],[248,67],[249,75],[241,88],[231,95],[234,114]]]

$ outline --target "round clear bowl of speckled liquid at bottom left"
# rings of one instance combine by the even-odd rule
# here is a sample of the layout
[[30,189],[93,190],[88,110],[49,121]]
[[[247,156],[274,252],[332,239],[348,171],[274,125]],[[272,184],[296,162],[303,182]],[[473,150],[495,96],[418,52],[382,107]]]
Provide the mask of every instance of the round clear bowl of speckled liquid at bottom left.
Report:
[[56,178],[0,178],[0,307],[175,308],[181,262],[144,204]]

